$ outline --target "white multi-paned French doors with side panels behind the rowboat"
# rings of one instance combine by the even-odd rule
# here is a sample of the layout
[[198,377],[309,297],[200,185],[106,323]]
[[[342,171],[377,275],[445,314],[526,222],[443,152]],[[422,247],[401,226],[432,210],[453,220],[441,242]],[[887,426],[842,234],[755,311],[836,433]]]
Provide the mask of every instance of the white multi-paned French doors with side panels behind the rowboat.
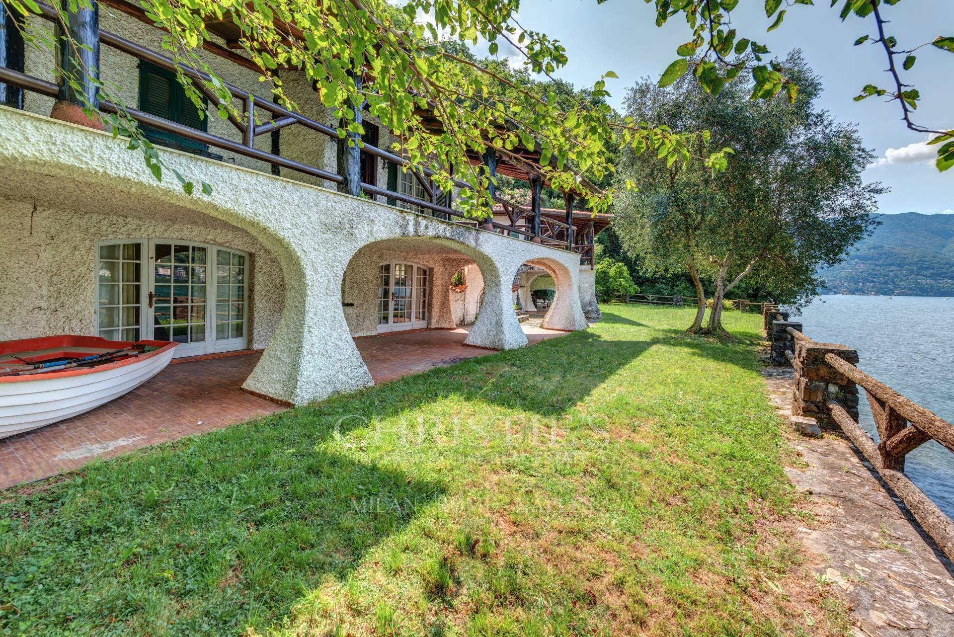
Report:
[[164,239],[100,241],[96,250],[99,336],[174,340],[176,358],[247,346],[248,255]]

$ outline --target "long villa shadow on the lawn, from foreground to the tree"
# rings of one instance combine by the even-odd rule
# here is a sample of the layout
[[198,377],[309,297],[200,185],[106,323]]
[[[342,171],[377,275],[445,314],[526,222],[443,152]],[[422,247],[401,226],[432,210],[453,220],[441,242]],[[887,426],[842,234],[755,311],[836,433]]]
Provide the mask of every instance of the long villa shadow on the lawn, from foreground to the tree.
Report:
[[[325,443],[336,435],[450,396],[558,416],[659,345],[751,365],[742,343],[613,312],[604,321],[605,335],[576,332],[465,360],[94,463],[73,482],[12,496],[0,502],[0,546],[9,547],[0,572],[17,612],[0,606],[0,623],[14,634],[105,634],[117,625],[129,634],[237,634],[281,625],[307,591],[329,576],[345,580],[447,491],[438,479],[370,462],[357,439],[347,455],[330,452]],[[646,331],[628,335],[617,325]]]

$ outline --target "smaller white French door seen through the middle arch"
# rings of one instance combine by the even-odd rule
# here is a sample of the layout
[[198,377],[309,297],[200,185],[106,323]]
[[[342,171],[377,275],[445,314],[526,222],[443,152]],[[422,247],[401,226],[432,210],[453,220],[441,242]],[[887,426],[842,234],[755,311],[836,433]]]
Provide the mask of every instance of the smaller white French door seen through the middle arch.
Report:
[[427,327],[427,268],[384,263],[378,268],[378,333]]

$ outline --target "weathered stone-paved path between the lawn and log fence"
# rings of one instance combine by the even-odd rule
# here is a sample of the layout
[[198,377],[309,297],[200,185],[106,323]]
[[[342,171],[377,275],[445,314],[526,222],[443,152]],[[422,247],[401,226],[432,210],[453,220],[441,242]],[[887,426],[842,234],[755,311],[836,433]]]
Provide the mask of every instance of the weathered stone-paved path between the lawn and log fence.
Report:
[[[792,370],[766,367],[769,400],[791,415]],[[788,467],[809,494],[813,521],[797,527],[818,559],[812,568],[840,590],[856,637],[954,636],[954,566],[925,541],[855,447],[826,432],[794,437],[807,466]]]

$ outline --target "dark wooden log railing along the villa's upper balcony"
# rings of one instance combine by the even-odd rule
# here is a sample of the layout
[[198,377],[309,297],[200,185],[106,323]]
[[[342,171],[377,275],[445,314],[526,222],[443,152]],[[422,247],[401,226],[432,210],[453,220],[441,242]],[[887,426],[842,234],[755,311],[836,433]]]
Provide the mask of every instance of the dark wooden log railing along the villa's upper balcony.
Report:
[[[39,7],[41,10],[40,17],[51,22],[55,22],[57,20],[56,11],[53,10],[52,7],[45,4],[39,4]],[[156,51],[150,51],[149,49],[146,49],[131,40],[109,31],[98,31],[98,38],[101,45],[111,47],[116,51],[122,51],[135,57],[136,59],[144,60],[150,64],[156,65],[161,69],[166,69],[171,72],[181,70],[189,77],[197,80],[195,86],[199,91],[205,93],[205,96],[210,100],[210,102],[213,104],[218,103],[218,97],[213,92],[207,91],[204,88],[203,80],[211,79],[206,73],[189,67],[176,67],[176,64],[172,59],[161,55]],[[0,82],[12,87],[23,89],[25,91],[36,92],[54,98],[57,96],[60,89],[57,84],[52,82],[2,66],[0,66]],[[224,84],[224,88],[230,92],[232,97],[238,100],[242,105],[243,116],[240,119],[235,115],[229,116],[229,121],[239,132],[239,136],[241,138],[240,142],[222,137],[217,134],[199,131],[163,117],[159,117],[152,113],[145,113],[143,111],[129,107],[125,107],[123,110],[125,113],[128,113],[132,118],[134,118],[139,124],[149,126],[150,128],[156,129],[163,133],[175,134],[179,137],[195,141],[199,144],[205,144],[212,148],[217,148],[230,153],[257,159],[259,161],[268,163],[272,167],[285,168],[299,172],[303,175],[318,177],[333,184],[341,184],[345,181],[345,177],[338,175],[337,173],[332,173],[319,167],[302,163],[301,161],[283,157],[280,154],[269,153],[255,148],[255,140],[257,137],[263,134],[276,133],[291,126],[301,126],[306,129],[325,134],[328,137],[334,139],[337,143],[339,137],[338,131],[335,128],[315,121],[314,119],[306,117],[301,113],[295,113],[293,111],[284,109],[280,105],[273,103],[270,99],[264,99],[255,95],[254,93],[243,91],[242,89],[239,89],[239,87],[233,86],[231,84]],[[120,109],[114,103],[101,99],[99,100],[99,110],[103,113],[118,113]],[[260,122],[260,117],[258,117],[256,113],[257,110],[259,112],[271,115],[271,121]],[[259,121],[257,121],[257,119]],[[361,150],[364,153],[372,154],[386,161],[393,162],[399,166],[408,165],[407,161],[405,161],[401,156],[389,153],[388,151],[370,144],[364,144]],[[420,171],[411,170],[410,172],[422,185],[424,192],[426,195],[428,195],[429,199],[421,199],[411,195],[396,193],[381,188],[377,184],[363,182],[360,185],[361,190],[368,195],[378,195],[386,199],[401,201],[406,204],[418,206],[425,211],[429,211],[432,216],[441,216],[443,218],[470,226],[481,225],[503,235],[518,236],[528,240],[534,240],[538,243],[543,243],[554,248],[570,250],[580,255],[580,260],[582,263],[592,264],[592,233],[589,233],[587,241],[577,243],[572,238],[574,233],[571,232],[569,224],[550,219],[542,215],[540,216],[539,222],[535,223],[535,215],[532,209],[519,206],[496,195],[494,196],[494,201],[504,205],[504,209],[508,214],[509,223],[500,223],[493,221],[492,219],[484,219],[482,221],[473,217],[465,216],[461,211],[455,210],[452,204],[446,206],[438,203],[438,189],[433,187],[433,184],[429,179],[429,177],[433,175],[432,171],[425,168]],[[455,179],[454,184],[458,188],[471,188],[469,184],[461,180]],[[570,231],[569,236],[568,230]]]

